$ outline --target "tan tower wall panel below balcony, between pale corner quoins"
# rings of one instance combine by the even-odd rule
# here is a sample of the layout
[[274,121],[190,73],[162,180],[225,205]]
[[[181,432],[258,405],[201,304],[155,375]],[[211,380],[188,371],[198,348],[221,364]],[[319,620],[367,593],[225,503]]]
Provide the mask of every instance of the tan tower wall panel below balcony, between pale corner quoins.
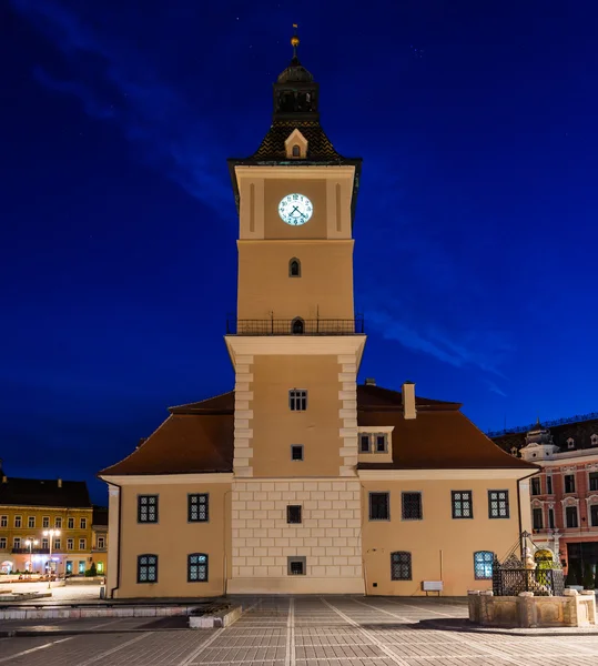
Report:
[[[252,371],[253,476],[337,476],[337,356],[255,356]],[[288,408],[291,389],[307,390],[305,412]],[[303,462],[291,460],[292,444],[303,444]]]

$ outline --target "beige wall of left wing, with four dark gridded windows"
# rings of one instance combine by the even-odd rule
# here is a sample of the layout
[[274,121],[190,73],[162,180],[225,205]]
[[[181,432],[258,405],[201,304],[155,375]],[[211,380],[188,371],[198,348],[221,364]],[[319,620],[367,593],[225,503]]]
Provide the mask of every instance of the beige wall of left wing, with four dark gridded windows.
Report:
[[[225,552],[231,549],[230,491],[231,485],[224,483],[122,487],[121,576],[114,596],[200,597],[223,594],[224,566],[230,564]],[[187,522],[189,493],[210,494],[209,522]],[[155,494],[159,495],[159,523],[138,523],[138,495]],[[113,535],[111,537],[113,543]],[[191,553],[207,554],[206,583],[187,583],[187,555]],[[158,583],[136,583],[138,555],[143,554],[158,555]],[[110,582],[115,581],[112,565],[111,559]]]

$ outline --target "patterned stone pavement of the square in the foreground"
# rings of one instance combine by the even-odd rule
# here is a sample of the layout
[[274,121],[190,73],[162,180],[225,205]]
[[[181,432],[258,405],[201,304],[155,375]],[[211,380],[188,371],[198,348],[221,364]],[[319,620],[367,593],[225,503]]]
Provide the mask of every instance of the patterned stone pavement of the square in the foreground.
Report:
[[[245,599],[246,603],[246,599]],[[0,666],[594,666],[598,633],[467,632],[463,603],[280,597],[231,627],[152,630],[155,619],[93,622],[105,633],[0,639]],[[87,620],[92,622],[92,620]],[[108,623],[112,623],[108,627]],[[463,626],[462,626],[463,625]],[[91,625],[93,626],[93,625]],[[459,626],[462,628],[459,628]],[[118,629],[136,628],[136,633]]]

